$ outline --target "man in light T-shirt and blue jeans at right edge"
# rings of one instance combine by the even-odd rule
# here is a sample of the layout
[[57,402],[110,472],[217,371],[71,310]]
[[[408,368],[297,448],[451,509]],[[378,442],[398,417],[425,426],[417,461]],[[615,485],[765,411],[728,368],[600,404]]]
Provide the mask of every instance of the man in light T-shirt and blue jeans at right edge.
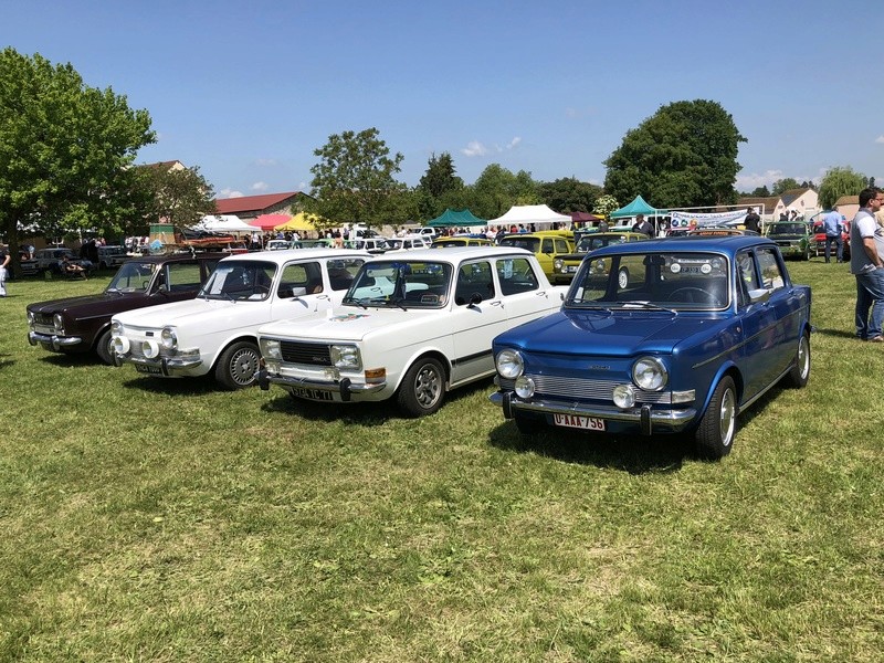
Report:
[[856,277],[856,337],[874,343],[884,341],[884,228],[875,221],[882,202],[884,192],[877,187],[860,191],[860,211],[850,224],[850,273]]

